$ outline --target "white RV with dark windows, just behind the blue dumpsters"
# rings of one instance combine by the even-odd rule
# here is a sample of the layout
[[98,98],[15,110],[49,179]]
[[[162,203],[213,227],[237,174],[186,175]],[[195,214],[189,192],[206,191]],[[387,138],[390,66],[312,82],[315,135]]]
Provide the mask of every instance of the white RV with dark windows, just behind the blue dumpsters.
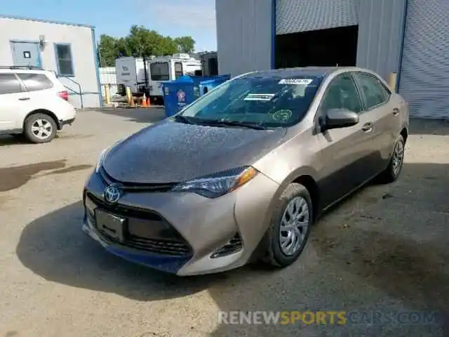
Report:
[[201,62],[189,54],[174,54],[148,61],[149,97],[153,101],[163,102],[161,83],[173,81],[187,74],[196,74],[201,70]]

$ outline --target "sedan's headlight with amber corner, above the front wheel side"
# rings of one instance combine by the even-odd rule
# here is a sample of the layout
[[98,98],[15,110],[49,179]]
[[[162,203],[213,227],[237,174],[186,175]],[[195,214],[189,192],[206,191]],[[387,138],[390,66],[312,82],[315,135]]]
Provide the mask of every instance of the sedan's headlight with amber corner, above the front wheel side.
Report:
[[173,192],[194,192],[207,198],[221,197],[248,183],[259,173],[252,166],[206,176],[173,187]]

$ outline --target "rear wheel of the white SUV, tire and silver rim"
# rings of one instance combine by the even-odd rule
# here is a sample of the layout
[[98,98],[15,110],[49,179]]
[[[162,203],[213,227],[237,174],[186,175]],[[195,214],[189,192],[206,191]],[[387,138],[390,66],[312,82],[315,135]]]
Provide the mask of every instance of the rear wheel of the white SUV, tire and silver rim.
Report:
[[31,143],[51,142],[57,132],[58,126],[48,114],[32,114],[25,119],[24,133]]

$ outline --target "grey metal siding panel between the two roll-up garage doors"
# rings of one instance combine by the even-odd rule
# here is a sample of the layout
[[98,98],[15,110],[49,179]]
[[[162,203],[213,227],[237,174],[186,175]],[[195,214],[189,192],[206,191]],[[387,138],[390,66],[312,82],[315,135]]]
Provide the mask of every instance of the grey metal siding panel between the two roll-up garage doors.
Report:
[[406,0],[361,0],[358,4],[357,66],[384,79],[398,72]]

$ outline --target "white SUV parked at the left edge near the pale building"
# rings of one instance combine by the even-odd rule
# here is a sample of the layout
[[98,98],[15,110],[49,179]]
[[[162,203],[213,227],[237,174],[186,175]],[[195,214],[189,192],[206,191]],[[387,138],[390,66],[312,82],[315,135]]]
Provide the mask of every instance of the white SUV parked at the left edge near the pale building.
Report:
[[24,134],[32,143],[47,143],[74,119],[67,88],[53,72],[0,67],[0,134]]

